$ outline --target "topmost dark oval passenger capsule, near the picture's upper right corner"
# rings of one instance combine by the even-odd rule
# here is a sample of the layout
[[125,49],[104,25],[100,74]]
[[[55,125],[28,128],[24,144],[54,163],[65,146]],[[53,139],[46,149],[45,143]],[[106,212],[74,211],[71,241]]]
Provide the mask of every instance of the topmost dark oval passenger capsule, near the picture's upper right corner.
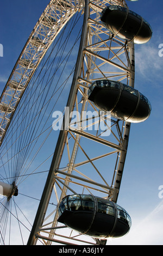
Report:
[[102,11],[101,21],[113,34],[136,44],[145,44],[152,37],[149,23],[127,8],[110,5]]

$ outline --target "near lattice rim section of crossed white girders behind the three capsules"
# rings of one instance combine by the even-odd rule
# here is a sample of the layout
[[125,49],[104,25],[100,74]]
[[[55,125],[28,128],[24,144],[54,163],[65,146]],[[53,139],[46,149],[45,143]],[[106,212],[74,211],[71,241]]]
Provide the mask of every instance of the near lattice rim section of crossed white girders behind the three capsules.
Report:
[[[70,193],[92,193],[117,202],[130,124],[101,113],[87,95],[90,84],[99,79],[124,81],[134,87],[132,42],[127,44],[116,38],[100,21],[101,11],[108,4],[126,6],[124,1],[90,1],[85,7],[84,39],[67,102],[70,120],[67,129],[60,132],[51,176],[45,186],[29,244],[39,240],[43,244],[86,243],[82,234],[74,234],[66,227],[62,230],[57,222],[58,206],[52,213],[48,212],[51,197],[56,198],[57,205]],[[92,155],[92,148],[97,149],[96,155]],[[95,241],[90,240],[90,243]]]

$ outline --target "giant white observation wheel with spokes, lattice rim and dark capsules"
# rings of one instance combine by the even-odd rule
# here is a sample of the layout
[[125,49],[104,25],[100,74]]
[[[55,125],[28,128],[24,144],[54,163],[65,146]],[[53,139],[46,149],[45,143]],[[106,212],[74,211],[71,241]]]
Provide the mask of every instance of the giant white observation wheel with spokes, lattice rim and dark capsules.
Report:
[[151,113],[134,88],[134,44],[151,36],[124,0],[49,2],[0,99],[2,245],[128,233],[117,198],[130,124]]

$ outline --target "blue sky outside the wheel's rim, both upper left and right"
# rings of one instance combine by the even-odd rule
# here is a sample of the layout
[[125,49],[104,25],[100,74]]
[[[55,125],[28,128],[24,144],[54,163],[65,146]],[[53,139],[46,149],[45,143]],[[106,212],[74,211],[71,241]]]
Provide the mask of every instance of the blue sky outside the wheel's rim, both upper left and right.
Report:
[[[0,93],[8,80],[29,34],[49,0],[3,1],[0,14]],[[163,186],[162,174],[162,110],[163,110],[163,44],[162,0],[127,1],[129,9],[146,19],[152,29],[152,39],[145,45],[135,45],[135,88],[148,97],[152,113],[148,120],[132,124],[124,174],[118,204],[130,214],[130,233],[110,245],[162,245]],[[163,195],[163,193],[162,193]]]

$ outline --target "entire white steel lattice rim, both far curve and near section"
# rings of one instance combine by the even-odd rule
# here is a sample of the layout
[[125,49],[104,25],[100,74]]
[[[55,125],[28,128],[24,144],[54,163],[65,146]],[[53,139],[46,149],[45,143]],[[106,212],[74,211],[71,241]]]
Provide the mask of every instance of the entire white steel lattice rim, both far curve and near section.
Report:
[[[72,116],[68,117],[68,129],[60,131],[28,245],[36,245],[39,241],[45,245],[53,242],[70,245],[70,240],[92,245],[105,243],[97,239],[86,241],[82,235],[73,234],[72,230],[60,226],[57,220],[58,205],[68,193],[84,193],[86,190],[86,193],[96,193],[117,202],[120,191],[130,124],[108,117],[106,113],[101,117],[99,109],[87,96],[90,84],[98,79],[124,81],[134,87],[134,44],[112,35],[101,22],[101,11],[108,4],[127,7],[124,0],[85,0],[85,3],[51,0],[29,36],[0,99],[2,143],[18,102],[49,46],[66,22],[77,11],[84,10],[82,38],[67,101]],[[83,113],[90,110],[96,112],[98,118],[84,117]],[[74,111],[80,113],[75,122]],[[89,120],[92,120],[91,124]],[[109,136],[103,137],[101,123],[109,131]],[[74,127],[74,124],[78,126]],[[98,126],[96,131],[93,130],[95,125]],[[96,155],[91,155],[92,147],[97,147]],[[67,161],[66,168],[61,168],[62,161],[64,164]],[[52,211],[49,209],[51,197],[57,204]],[[62,228],[64,232],[58,233]],[[80,239],[77,239],[78,236]]]

